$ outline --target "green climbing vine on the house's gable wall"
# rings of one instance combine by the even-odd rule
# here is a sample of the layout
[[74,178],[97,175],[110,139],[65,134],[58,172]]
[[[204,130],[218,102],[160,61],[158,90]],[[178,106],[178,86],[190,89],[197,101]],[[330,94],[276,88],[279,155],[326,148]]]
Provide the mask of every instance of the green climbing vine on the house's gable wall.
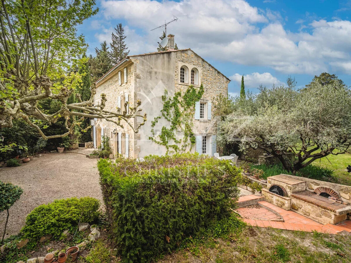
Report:
[[[201,84],[199,89],[189,86],[185,93],[176,92],[173,97],[168,96],[168,91],[162,96],[163,108],[161,116],[155,117],[151,122],[152,136],[149,140],[166,147],[167,152],[179,153],[184,152],[187,147],[190,149],[196,143],[195,135],[192,131],[193,119],[195,112],[195,103],[199,101],[204,94],[204,87]],[[155,136],[154,127],[161,118],[170,122],[170,127],[163,126],[161,133]],[[178,131],[183,132],[182,139],[177,139]],[[180,147],[179,147],[180,145]]]

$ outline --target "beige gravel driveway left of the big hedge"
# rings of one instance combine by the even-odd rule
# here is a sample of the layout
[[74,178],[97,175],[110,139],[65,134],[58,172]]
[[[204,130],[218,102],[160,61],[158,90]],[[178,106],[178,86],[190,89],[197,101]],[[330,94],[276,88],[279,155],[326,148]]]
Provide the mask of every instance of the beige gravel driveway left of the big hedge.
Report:
[[[9,210],[7,235],[18,234],[26,216],[38,205],[55,199],[91,196],[102,204],[97,159],[84,154],[42,154],[19,167],[0,168],[0,180],[19,185],[23,194]],[[0,214],[0,233],[4,232],[6,211]]]

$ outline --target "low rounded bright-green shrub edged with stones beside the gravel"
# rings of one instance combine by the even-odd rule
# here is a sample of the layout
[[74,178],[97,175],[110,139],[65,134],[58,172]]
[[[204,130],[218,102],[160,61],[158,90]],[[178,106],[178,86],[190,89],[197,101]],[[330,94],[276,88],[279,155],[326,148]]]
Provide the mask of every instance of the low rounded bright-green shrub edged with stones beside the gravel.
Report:
[[22,233],[31,240],[38,240],[44,235],[53,235],[53,239],[58,239],[65,229],[77,226],[79,220],[95,221],[99,206],[99,200],[92,197],[73,197],[39,205],[27,216]]

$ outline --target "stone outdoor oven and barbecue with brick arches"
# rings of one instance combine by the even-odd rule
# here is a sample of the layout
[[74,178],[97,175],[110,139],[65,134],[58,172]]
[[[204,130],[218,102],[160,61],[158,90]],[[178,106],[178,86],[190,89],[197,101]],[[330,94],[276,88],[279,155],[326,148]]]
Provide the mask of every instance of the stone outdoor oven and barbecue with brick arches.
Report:
[[322,224],[337,224],[350,218],[349,186],[280,174],[267,178],[262,196],[267,202]]

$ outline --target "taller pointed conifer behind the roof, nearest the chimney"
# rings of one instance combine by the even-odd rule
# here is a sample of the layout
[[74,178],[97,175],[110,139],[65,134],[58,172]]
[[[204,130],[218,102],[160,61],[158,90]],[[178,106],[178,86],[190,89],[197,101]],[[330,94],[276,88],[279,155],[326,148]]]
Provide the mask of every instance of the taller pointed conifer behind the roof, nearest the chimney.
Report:
[[126,36],[124,35],[124,28],[122,27],[122,24],[119,23],[117,25],[117,28],[115,27],[114,30],[116,31],[116,33],[112,33],[112,42],[110,43],[110,55],[111,61],[114,64],[117,64],[118,62],[122,61],[126,56],[128,56],[130,50],[127,51],[128,47],[124,42]]

